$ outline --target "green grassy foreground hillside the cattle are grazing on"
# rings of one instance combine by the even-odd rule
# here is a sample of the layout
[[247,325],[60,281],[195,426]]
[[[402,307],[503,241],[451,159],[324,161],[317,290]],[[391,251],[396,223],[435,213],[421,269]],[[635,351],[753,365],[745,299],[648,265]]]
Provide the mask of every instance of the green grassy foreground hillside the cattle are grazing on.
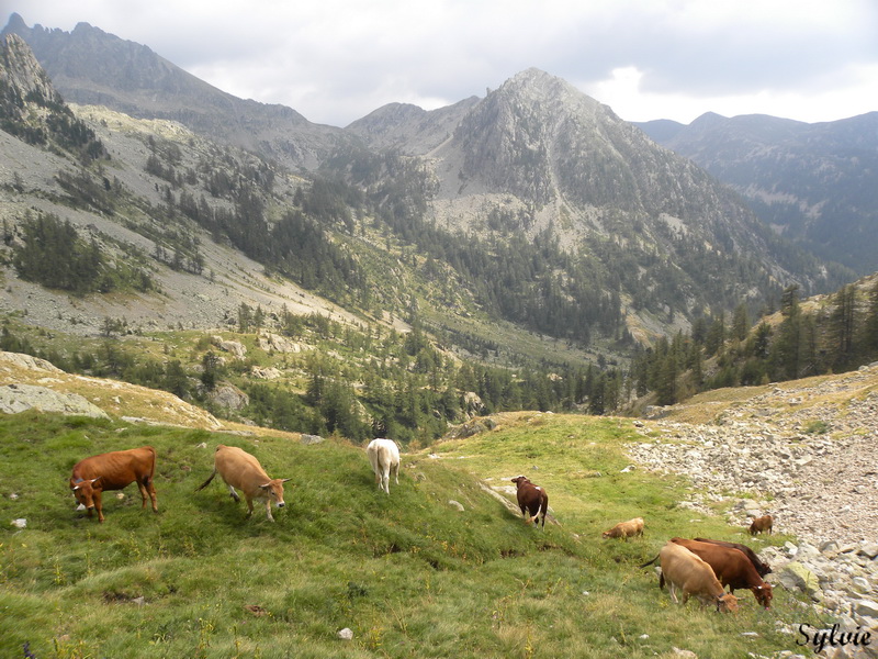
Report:
[[[360,447],[23,413],[0,416],[0,655],[87,657],[742,657],[796,649],[812,614],[778,591],[738,615],[673,605],[638,569],[672,535],[741,537],[677,506],[686,483],[632,471],[628,422],[499,416],[493,431],[404,456],[380,492]],[[216,444],[291,477],[271,524],[211,483]],[[102,525],[67,490],[87,455],[151,444],[159,513],[131,485]],[[202,446],[206,445],[206,446]],[[526,527],[480,480],[527,473],[553,521]],[[600,473],[600,476],[597,474]],[[493,479],[493,480],[488,480]],[[14,496],[13,496],[14,494]],[[449,504],[460,502],[463,512]],[[603,540],[642,514],[644,538]],[[10,521],[25,518],[18,529]],[[775,537],[772,541],[783,541]],[[353,640],[337,638],[344,627]],[[756,636],[742,636],[754,632]],[[645,636],[644,636],[645,635]]]

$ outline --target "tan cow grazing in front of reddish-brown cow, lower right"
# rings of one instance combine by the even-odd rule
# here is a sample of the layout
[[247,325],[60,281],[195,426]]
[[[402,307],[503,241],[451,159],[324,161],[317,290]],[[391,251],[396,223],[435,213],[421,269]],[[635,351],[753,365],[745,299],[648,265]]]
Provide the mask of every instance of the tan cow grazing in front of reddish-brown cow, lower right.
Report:
[[717,576],[710,566],[695,554],[675,543],[666,543],[658,556],[641,568],[661,560],[662,574],[658,588],[667,581],[671,597],[677,602],[677,589],[683,591],[683,604],[694,595],[701,605],[716,604],[717,611],[731,613],[738,611],[738,597],[722,590]]

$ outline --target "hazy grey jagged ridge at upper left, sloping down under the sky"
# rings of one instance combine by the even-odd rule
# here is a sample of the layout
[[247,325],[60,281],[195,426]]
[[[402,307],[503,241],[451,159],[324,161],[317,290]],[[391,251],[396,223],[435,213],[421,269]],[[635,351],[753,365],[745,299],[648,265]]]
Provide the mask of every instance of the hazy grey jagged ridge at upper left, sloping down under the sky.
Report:
[[216,139],[260,150],[292,168],[315,168],[349,138],[291,108],[221,91],[154,53],[88,23],[71,32],[29,27],[13,13],[2,34],[21,36],[70,102],[131,116],[171,119]]

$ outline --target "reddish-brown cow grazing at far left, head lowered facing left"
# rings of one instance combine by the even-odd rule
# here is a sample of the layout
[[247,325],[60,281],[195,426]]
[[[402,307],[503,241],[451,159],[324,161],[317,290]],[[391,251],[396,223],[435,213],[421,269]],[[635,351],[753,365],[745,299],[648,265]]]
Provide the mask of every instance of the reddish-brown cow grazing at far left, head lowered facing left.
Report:
[[153,484],[155,472],[156,450],[151,446],[114,450],[77,462],[70,476],[70,490],[79,504],[89,512],[89,517],[97,510],[98,522],[103,522],[101,493],[122,490],[136,482],[144,500],[142,507],[146,507],[146,498],[149,495],[153,511],[157,513],[156,488]]

